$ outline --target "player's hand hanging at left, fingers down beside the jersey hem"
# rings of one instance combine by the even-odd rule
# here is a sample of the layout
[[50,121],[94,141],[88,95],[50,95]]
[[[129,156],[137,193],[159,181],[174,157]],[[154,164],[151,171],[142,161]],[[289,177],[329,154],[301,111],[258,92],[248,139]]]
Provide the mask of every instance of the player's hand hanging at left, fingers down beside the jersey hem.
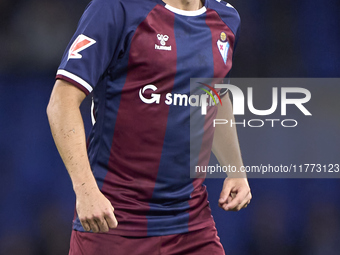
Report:
[[85,231],[103,233],[117,227],[114,208],[97,186],[81,187],[77,190],[76,196],[78,217]]

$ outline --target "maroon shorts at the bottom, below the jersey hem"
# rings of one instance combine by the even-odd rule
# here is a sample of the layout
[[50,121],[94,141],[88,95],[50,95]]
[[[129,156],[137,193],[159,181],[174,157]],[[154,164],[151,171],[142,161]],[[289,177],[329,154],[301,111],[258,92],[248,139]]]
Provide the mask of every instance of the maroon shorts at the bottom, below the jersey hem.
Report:
[[214,226],[167,236],[126,237],[72,231],[69,255],[225,255]]

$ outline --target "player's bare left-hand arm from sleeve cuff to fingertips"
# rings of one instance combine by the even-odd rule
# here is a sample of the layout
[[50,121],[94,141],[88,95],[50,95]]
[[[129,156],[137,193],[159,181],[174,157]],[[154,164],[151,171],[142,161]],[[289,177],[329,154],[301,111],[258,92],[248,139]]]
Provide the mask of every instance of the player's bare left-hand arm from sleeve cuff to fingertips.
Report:
[[57,80],[47,115],[53,139],[72,180],[82,226],[86,231],[108,232],[118,223],[114,208],[98,188],[87,157],[84,123],[79,110],[84,98],[81,90]]

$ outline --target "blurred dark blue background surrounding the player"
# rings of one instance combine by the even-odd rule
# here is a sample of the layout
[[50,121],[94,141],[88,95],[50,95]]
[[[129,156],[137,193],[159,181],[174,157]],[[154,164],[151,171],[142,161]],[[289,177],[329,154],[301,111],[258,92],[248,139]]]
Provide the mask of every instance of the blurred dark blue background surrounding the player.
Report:
[[[232,76],[340,77],[338,0],[231,3],[242,18]],[[0,0],[0,254],[67,254],[75,196],[45,109],[62,53],[87,4]],[[332,93],[339,92],[340,87]],[[339,112],[339,103],[313,96],[320,96],[321,111]],[[88,100],[82,111],[89,130]],[[263,139],[239,130],[245,163],[259,155],[266,159],[270,152],[286,160],[311,153],[340,155],[339,146],[327,146],[339,139],[339,115],[325,118],[332,130],[321,125],[318,137],[308,130],[288,140],[268,134],[280,141],[277,153]],[[301,135],[308,144],[317,140],[323,146],[289,143]],[[251,179],[254,198],[238,213],[217,207],[222,182],[210,179],[206,185],[227,254],[339,254],[339,180]]]

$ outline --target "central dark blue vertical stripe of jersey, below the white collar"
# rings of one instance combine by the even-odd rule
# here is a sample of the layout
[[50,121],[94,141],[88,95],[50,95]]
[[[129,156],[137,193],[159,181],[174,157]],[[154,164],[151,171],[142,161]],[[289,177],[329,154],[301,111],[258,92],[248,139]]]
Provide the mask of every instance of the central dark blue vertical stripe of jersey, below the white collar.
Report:
[[[211,32],[205,24],[204,16],[205,14],[202,17],[194,17],[196,24],[197,20],[201,24],[193,27],[187,22],[190,17],[175,14],[177,72],[172,95],[190,96],[190,78],[193,78],[191,75],[195,75],[195,77],[213,76]],[[205,45],[205,47],[191,47],[192,44]],[[206,47],[206,45],[210,47]],[[193,70],[196,70],[194,74]],[[175,100],[174,96],[172,99]],[[184,101],[182,103],[184,104]],[[170,105],[160,166],[153,197],[149,203],[151,212],[147,216],[149,235],[150,233],[154,235],[155,229],[158,229],[159,233],[157,234],[160,235],[188,231],[190,217],[188,200],[194,190],[193,179],[190,179],[190,162],[192,159],[195,159],[194,162],[198,161],[204,132],[204,118],[200,116],[191,120],[190,111],[192,109],[190,108],[193,107]],[[200,107],[194,108],[194,110],[200,113]],[[194,139],[190,139],[191,133],[197,136],[193,145],[190,144]],[[192,148],[195,150],[191,152]],[[186,171],[183,172],[183,169]],[[183,180],[187,181],[184,183]],[[157,212],[157,215],[153,215],[152,212]],[[157,218],[161,220],[156,220]],[[174,230],[171,226],[177,226],[177,229]]]

